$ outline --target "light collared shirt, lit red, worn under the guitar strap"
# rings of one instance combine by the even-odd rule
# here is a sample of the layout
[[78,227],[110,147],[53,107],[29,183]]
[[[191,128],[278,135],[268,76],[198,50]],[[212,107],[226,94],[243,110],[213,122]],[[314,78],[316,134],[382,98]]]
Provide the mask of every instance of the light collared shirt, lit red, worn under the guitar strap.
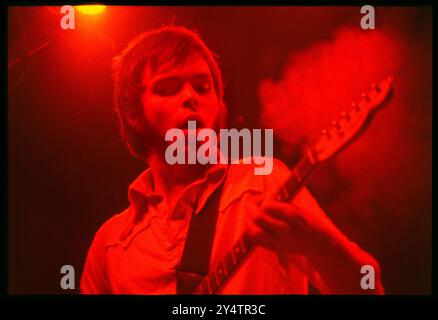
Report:
[[[81,278],[85,294],[175,294],[192,214],[202,214],[207,199],[223,183],[210,266],[231,250],[246,229],[248,201],[275,190],[289,169],[274,159],[270,175],[254,175],[254,166],[215,165],[202,180],[188,185],[174,209],[154,190],[151,169],[129,187],[130,206],[106,221],[88,251]],[[303,189],[294,202],[324,214]],[[219,290],[221,294],[306,294],[308,280],[325,285],[303,256],[281,255],[256,247]]]

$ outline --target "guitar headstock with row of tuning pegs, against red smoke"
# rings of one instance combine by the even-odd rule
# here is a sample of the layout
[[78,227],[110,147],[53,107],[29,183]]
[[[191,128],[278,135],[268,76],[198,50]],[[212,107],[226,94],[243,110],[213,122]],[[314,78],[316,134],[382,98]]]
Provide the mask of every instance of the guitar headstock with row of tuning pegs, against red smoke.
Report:
[[360,135],[374,111],[388,100],[393,80],[389,76],[373,84],[368,93],[363,93],[358,102],[351,104],[350,111],[342,112],[339,121],[333,121],[330,129],[322,131],[322,137],[313,147],[316,161],[327,160]]

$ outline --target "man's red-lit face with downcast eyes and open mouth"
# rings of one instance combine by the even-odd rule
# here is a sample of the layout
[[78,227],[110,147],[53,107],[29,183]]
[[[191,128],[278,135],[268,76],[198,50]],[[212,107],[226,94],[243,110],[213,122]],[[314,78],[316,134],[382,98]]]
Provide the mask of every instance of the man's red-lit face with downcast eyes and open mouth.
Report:
[[162,138],[169,129],[186,132],[187,122],[196,120],[197,129],[217,130],[222,110],[210,68],[200,56],[189,58],[170,71],[143,75],[142,96],[148,126]]

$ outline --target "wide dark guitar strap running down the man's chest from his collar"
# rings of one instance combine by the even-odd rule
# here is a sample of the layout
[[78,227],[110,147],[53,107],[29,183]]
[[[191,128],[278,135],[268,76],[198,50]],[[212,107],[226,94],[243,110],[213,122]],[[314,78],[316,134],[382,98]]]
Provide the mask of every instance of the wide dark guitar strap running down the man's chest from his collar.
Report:
[[178,294],[192,294],[208,274],[224,182],[216,188],[198,214],[193,214],[181,263],[176,270]]

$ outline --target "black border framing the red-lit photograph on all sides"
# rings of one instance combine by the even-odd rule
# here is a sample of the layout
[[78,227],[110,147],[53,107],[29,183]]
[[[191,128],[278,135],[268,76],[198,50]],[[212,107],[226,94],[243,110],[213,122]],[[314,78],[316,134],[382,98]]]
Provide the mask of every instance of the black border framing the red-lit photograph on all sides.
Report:
[[[90,1],[88,1],[90,2]],[[251,1],[147,1],[147,2],[133,2],[133,1],[96,1],[99,3],[104,3],[107,5],[147,5],[147,6],[200,6],[200,5],[215,5],[215,6],[285,6],[285,5],[304,5],[304,6],[362,6],[365,4],[375,5],[375,6],[430,6],[433,9],[432,12],[432,24],[433,24],[433,40],[435,40],[435,23],[433,17],[436,16],[435,4],[432,1],[266,1],[266,0],[251,0]],[[431,295],[386,295],[386,296],[346,296],[346,295],[327,295],[327,296],[291,296],[291,295],[278,295],[278,296],[81,296],[81,295],[9,295],[8,294],[8,97],[7,97],[7,87],[8,83],[7,77],[7,37],[8,37],[8,7],[9,6],[42,6],[42,5],[65,5],[69,4],[71,1],[6,1],[2,2],[2,91],[3,91],[3,107],[1,108],[2,117],[2,140],[1,147],[4,151],[4,156],[1,157],[1,169],[2,175],[2,195],[1,195],[1,205],[2,205],[2,220],[1,220],[1,257],[2,262],[0,264],[0,270],[2,273],[1,280],[1,298],[0,301],[9,302],[12,306],[16,306],[16,303],[38,303],[44,305],[47,302],[57,302],[62,305],[66,305],[69,310],[73,310],[71,303],[83,303],[87,301],[93,301],[97,303],[100,307],[105,309],[113,309],[113,305],[117,305],[118,302],[125,303],[138,303],[140,302],[144,309],[143,315],[141,317],[148,318],[151,314],[152,309],[155,312],[159,312],[160,319],[166,318],[185,318],[183,316],[172,316],[171,308],[173,306],[178,306],[180,303],[188,306],[207,306],[209,308],[214,307],[216,304],[266,304],[267,315],[265,316],[232,316],[234,319],[248,319],[248,318],[263,318],[263,319],[277,319],[277,318],[292,318],[297,316],[295,308],[300,306],[306,310],[306,316],[312,315],[319,308],[314,308],[315,303],[318,306],[323,307],[322,311],[337,311],[339,310],[338,303],[348,303],[356,312],[352,313],[351,316],[355,317],[357,313],[363,313],[367,316],[367,307],[375,307],[381,305],[383,302],[388,304],[391,310],[400,309],[405,310],[406,307],[412,306],[411,302],[414,302],[419,309],[423,309],[424,302],[434,302],[437,299],[436,295],[436,277],[433,277],[433,266],[436,265],[436,258],[432,254],[432,294]],[[75,1],[74,4],[87,3],[87,1]],[[435,41],[433,41],[433,51],[435,50]],[[432,74],[432,85],[435,89],[435,64],[433,63],[433,74]],[[434,103],[432,93],[432,103]],[[432,141],[433,146],[433,141]],[[433,208],[433,203],[432,203]],[[432,211],[433,212],[433,211]],[[432,219],[432,230],[436,222]],[[435,238],[432,232],[432,248],[435,243]],[[433,249],[432,249],[433,253]],[[105,302],[105,304],[101,304]],[[109,303],[108,303],[109,302]],[[116,304],[113,304],[116,302]],[[284,309],[283,309],[284,308]],[[15,308],[14,308],[15,309]],[[362,311],[361,311],[362,310]],[[156,313],[155,313],[156,314]],[[375,316],[376,313],[372,312],[368,316]],[[407,315],[407,314],[406,314]],[[418,316],[418,314],[415,314]],[[209,315],[204,317],[207,319],[213,318],[214,315]],[[197,318],[197,317],[192,317]],[[218,318],[223,318],[223,316],[218,316]],[[229,318],[229,317],[228,317]]]

